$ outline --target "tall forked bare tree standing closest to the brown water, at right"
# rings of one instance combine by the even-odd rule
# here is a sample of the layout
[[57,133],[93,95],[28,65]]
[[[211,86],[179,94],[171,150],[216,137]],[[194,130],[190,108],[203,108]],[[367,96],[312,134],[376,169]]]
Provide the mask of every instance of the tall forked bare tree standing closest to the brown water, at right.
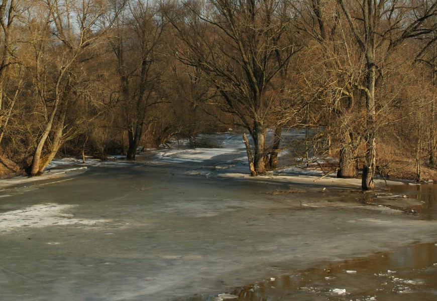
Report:
[[352,85],[365,97],[366,156],[362,189],[372,190],[376,168],[376,129],[378,101],[375,98],[378,70],[388,56],[405,40],[426,35],[432,28],[425,21],[437,14],[437,3],[429,1],[338,0],[361,54],[362,79]]

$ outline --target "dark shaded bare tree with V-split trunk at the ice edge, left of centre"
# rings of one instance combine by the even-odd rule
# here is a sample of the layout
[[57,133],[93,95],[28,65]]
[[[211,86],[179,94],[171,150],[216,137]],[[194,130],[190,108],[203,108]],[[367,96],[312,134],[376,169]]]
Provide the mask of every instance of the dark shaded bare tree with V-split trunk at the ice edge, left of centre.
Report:
[[135,160],[144,127],[151,122],[151,106],[162,103],[161,73],[158,66],[162,52],[164,19],[148,1],[132,0],[118,4],[120,14],[110,39],[117,58],[120,98],[127,123],[128,160]]

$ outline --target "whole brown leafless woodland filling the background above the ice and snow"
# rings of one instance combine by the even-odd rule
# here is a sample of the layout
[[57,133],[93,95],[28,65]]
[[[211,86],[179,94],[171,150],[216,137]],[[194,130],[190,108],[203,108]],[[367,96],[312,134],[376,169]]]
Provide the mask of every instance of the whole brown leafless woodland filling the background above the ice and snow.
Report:
[[0,28],[1,156],[30,176],[228,127],[253,175],[289,126],[364,190],[396,158],[437,166],[435,1],[4,0]]

